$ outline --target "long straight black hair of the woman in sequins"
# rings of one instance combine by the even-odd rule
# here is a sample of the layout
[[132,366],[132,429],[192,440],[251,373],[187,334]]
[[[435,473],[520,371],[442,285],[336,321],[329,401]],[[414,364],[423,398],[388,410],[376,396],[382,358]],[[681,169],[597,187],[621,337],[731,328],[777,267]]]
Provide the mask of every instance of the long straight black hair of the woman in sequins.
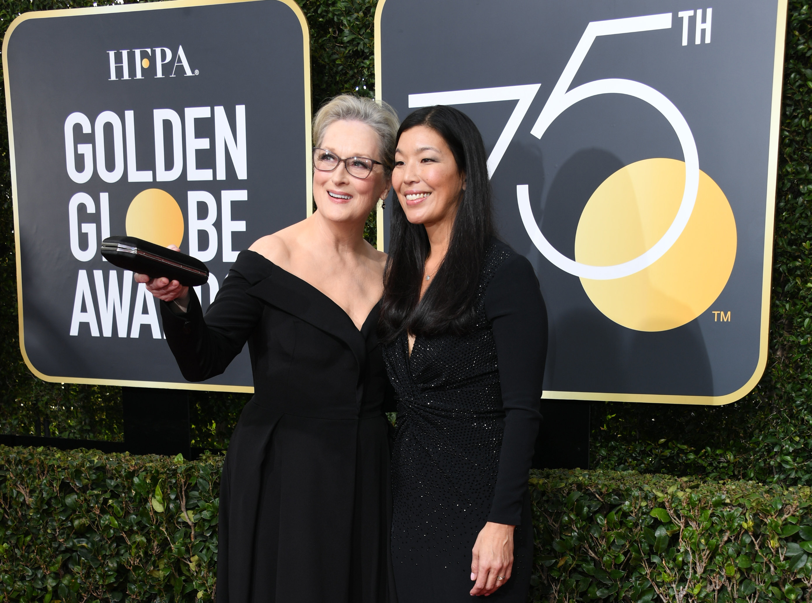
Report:
[[449,106],[418,109],[400,124],[395,144],[404,131],[417,126],[430,127],[443,137],[464,176],[465,189],[460,192],[448,251],[422,299],[421,279],[431,251],[429,236],[425,226],[408,221],[400,203],[392,204],[391,243],[378,323],[385,342],[404,331],[432,336],[464,334],[472,329],[482,261],[494,235],[485,145],[473,121]]

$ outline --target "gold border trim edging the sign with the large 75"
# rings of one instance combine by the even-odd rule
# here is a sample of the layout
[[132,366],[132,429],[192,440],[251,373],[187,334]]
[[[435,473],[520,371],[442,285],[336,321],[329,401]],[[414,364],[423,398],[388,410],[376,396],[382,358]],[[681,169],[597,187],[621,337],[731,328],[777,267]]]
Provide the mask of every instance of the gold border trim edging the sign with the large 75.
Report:
[[[546,390],[542,398],[562,400],[596,400],[606,402],[640,402],[659,404],[706,404],[722,406],[744,398],[761,379],[767,368],[767,350],[770,335],[770,292],[772,277],[772,246],[775,227],[775,187],[778,180],[778,143],[781,121],[781,88],[784,83],[784,44],[787,33],[788,0],[778,0],[775,19],[775,57],[772,71],[772,103],[770,113],[770,139],[767,157],[767,206],[764,219],[764,264],[762,266],[761,335],[758,343],[758,362],[754,373],[738,390],[722,396],[679,396],[668,394],[607,394],[585,391]],[[375,10],[375,99],[381,101],[381,17],[386,0],[378,2]],[[4,49],[5,50],[5,49]],[[5,57],[5,54],[3,55]],[[5,60],[5,58],[3,59]],[[13,165],[13,163],[12,163]],[[378,209],[378,225],[382,225],[383,211]],[[378,228],[378,249],[383,250],[383,230]]]

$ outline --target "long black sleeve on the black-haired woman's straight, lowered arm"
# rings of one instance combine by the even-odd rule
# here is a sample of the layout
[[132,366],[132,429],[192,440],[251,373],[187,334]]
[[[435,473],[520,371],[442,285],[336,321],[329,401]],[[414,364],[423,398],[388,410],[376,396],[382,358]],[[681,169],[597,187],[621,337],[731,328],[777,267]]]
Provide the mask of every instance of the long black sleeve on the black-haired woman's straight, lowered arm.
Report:
[[522,497],[541,416],[547,312],[533,266],[524,256],[504,261],[485,298],[499,359],[505,411],[499,475],[488,521],[521,523]]

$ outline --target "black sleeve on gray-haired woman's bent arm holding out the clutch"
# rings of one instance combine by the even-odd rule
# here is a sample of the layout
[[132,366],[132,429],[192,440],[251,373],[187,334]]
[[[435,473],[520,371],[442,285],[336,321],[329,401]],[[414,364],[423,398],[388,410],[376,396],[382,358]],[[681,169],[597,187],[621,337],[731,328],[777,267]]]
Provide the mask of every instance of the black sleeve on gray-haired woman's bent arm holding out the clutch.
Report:
[[169,304],[161,302],[166,342],[188,381],[204,381],[225,371],[261,319],[262,304],[246,293],[252,283],[238,271],[239,267],[240,258],[205,318],[194,289],[189,290],[189,305],[184,313],[173,312]]

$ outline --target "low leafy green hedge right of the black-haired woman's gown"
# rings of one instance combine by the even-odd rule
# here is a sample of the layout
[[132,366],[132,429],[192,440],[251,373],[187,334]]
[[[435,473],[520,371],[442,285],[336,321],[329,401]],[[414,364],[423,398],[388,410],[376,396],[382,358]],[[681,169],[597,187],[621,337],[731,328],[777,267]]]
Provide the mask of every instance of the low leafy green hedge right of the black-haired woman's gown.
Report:
[[533,472],[533,601],[810,601],[812,489]]

